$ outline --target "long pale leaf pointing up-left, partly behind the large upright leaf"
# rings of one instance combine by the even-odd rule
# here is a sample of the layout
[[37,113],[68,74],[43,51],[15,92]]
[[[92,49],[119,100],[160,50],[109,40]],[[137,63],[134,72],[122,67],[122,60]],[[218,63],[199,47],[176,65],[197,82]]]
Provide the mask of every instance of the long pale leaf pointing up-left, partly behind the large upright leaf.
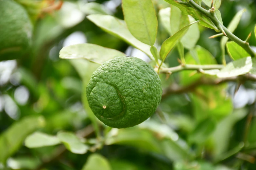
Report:
[[110,15],[101,14],[89,15],[87,18],[107,33],[117,36],[133,47],[145,52],[153,60],[150,46],[142,43],[131,35],[123,20],[119,20]]

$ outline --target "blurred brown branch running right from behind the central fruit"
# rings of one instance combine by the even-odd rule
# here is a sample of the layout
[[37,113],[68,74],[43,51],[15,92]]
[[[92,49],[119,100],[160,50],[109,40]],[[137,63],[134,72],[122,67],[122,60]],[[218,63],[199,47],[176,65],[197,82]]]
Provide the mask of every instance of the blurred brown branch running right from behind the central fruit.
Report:
[[256,75],[246,74],[246,75],[230,77],[230,78],[215,78],[215,79],[202,77],[199,80],[197,80],[195,83],[192,83],[188,86],[180,87],[180,85],[178,84],[172,85],[171,87],[163,91],[162,99],[167,98],[171,94],[193,92],[197,87],[202,85],[219,85],[226,82],[237,82],[237,81],[245,82],[247,80],[256,81]]

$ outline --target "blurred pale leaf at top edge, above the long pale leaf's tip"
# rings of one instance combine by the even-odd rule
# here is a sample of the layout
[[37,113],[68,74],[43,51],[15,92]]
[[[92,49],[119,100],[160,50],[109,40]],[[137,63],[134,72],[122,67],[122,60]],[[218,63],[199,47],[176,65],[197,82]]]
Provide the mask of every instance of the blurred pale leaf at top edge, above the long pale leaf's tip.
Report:
[[81,5],[80,10],[84,12],[86,15],[91,15],[91,14],[113,15],[113,12],[109,8],[96,2],[90,2],[84,5]]

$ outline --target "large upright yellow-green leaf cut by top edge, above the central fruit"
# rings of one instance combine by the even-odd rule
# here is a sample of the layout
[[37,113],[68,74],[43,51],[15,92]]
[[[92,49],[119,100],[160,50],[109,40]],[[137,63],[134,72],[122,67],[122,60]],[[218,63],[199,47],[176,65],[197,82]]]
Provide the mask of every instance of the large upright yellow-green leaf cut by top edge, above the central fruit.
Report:
[[157,35],[157,17],[151,0],[122,0],[125,22],[130,33],[153,46]]

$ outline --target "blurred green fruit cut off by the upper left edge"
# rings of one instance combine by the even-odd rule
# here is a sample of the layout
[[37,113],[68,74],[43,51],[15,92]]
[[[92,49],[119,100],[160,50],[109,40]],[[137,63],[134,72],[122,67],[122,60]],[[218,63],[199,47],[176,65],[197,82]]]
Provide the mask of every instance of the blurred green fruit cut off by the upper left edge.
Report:
[[0,0],[0,61],[21,57],[29,48],[33,26],[23,6]]

